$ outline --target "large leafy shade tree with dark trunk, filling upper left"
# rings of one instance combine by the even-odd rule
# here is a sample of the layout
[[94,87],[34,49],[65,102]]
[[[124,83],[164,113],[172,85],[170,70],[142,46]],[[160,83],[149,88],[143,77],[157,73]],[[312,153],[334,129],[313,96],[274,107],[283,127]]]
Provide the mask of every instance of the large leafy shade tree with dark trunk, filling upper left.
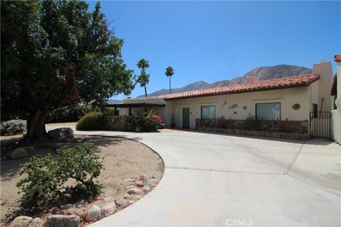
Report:
[[1,1],[1,114],[21,114],[28,139],[47,136],[48,112],[85,101],[101,104],[134,88],[100,11],[85,1]]

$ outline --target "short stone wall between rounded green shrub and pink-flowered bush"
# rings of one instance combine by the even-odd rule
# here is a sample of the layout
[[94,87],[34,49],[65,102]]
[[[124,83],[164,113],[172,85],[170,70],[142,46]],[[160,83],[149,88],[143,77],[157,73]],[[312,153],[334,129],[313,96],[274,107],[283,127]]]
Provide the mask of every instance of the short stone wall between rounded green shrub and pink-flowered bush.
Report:
[[103,130],[134,131],[133,126],[126,122],[127,118],[133,118],[133,116],[106,116],[103,119]]

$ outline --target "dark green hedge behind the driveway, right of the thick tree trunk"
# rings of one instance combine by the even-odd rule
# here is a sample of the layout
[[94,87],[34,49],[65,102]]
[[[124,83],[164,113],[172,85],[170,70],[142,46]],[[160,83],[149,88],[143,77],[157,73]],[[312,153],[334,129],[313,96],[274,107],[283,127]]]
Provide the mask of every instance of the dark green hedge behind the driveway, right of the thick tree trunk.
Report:
[[90,104],[75,104],[55,109],[46,118],[46,123],[56,122],[75,122],[79,121],[82,116],[89,113],[92,109]]

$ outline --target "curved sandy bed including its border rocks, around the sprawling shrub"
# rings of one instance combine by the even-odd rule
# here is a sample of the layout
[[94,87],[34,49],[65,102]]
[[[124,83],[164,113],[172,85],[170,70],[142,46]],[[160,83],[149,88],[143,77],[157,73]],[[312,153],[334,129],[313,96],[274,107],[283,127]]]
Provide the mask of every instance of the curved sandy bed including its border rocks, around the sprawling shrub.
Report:
[[[85,226],[139,201],[156,187],[163,175],[164,165],[161,157],[146,145],[134,140],[75,136],[63,142],[55,140],[46,144],[33,143],[30,145],[33,148],[27,149],[27,157],[12,159],[9,157],[12,153],[11,145],[16,145],[19,139],[18,135],[1,137],[1,226],[9,226],[17,216],[28,216],[29,218],[17,218],[17,221],[38,223],[36,226],[53,226],[56,219]],[[91,201],[61,201],[59,204],[23,209],[19,200],[21,194],[18,194],[16,187],[16,182],[23,177],[18,175],[20,165],[33,155],[54,154],[55,148],[67,148],[86,142],[97,146],[94,154],[103,160],[104,170],[97,179],[104,185],[102,193]],[[68,181],[67,184],[75,182]]]

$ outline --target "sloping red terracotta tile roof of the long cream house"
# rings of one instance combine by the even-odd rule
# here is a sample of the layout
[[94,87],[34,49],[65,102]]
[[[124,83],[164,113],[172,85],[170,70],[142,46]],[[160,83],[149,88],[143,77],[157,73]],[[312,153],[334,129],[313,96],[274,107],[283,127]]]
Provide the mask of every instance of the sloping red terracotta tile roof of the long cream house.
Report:
[[246,84],[232,84],[226,87],[214,87],[210,89],[202,89],[191,92],[174,93],[168,94],[164,97],[165,100],[188,99],[200,96],[215,96],[222,94],[235,94],[242,92],[257,92],[274,89],[285,89],[291,87],[303,87],[308,86],[319,78],[320,76],[318,74],[307,74],[296,77],[283,77],[281,79],[269,79]]

